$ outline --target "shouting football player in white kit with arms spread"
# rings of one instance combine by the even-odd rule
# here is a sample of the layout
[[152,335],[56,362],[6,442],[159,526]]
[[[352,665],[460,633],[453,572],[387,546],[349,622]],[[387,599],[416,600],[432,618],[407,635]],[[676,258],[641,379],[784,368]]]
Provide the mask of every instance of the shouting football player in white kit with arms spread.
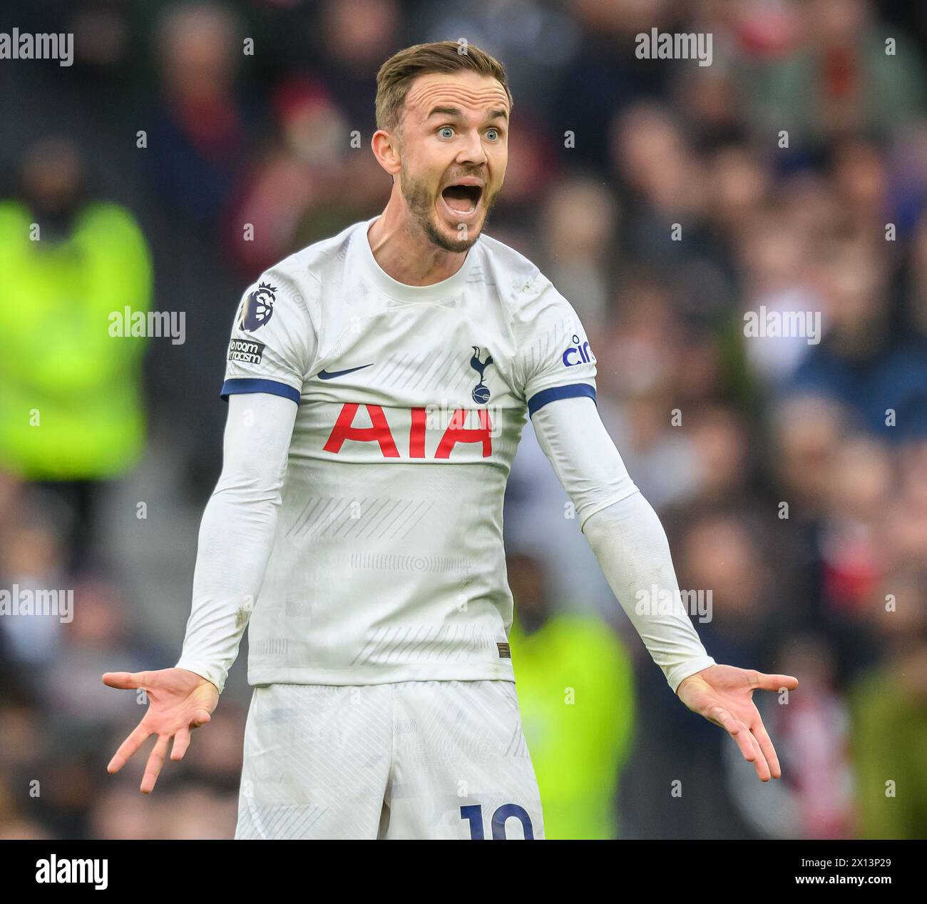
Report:
[[[385,210],[260,275],[235,312],[222,475],[174,668],[108,672],[149,707],[150,793],[210,713],[249,627],[236,838],[542,838],[508,643],[502,499],[527,418],[603,574],[672,691],[763,782],[752,701],[786,675],[717,665],[666,533],[599,418],[573,307],[483,232],[513,99],[473,45],[379,70]],[[656,587],[676,605],[635,606]]]

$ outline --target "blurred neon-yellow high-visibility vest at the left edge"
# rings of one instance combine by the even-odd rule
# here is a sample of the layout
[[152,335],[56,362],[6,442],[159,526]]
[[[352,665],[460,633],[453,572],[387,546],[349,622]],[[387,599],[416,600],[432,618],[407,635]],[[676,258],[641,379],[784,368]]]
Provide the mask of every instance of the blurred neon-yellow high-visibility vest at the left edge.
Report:
[[0,467],[82,479],[135,463],[146,339],[110,335],[126,306],[151,306],[148,248],[127,210],[91,204],[49,241],[28,208],[0,203]]

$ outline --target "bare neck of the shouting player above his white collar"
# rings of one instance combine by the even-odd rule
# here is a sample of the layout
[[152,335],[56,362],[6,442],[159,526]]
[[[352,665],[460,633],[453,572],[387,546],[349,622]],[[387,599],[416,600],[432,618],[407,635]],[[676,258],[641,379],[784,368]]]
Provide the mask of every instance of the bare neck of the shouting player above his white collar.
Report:
[[367,232],[375,261],[406,286],[432,286],[464,265],[466,251],[445,251],[432,244],[394,190],[382,215]]

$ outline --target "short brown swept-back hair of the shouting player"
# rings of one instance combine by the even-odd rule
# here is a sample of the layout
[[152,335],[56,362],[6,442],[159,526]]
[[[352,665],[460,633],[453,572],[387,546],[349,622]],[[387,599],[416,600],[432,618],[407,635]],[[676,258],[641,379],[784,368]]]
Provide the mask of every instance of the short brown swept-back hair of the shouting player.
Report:
[[471,70],[491,75],[505,89],[509,108],[512,92],[502,63],[484,50],[463,41],[434,41],[416,44],[393,54],[376,73],[376,128],[394,132],[399,128],[402,107],[409,86],[428,72]]

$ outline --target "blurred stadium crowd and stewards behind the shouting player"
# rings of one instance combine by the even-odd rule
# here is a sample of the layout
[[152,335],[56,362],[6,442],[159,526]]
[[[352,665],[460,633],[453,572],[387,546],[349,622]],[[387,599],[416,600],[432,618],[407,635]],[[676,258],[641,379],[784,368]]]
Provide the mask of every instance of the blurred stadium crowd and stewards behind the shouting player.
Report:
[[[179,655],[243,289],[382,209],[375,72],[460,37],[515,98],[487,231],[587,326],[709,653],[802,682],[761,702],[762,785],[668,690],[527,427],[506,532],[549,834],[927,836],[927,6],[6,0],[13,27],[75,38],[71,67],[0,60],[0,587],[74,618],[0,618],[0,837],[232,836],[247,644],[150,797],[144,760],[106,773],[143,710],[100,675]],[[711,32],[712,65],[637,59],[653,27]],[[184,343],[109,337],[126,305]],[[744,337],[761,306],[823,340]]]

